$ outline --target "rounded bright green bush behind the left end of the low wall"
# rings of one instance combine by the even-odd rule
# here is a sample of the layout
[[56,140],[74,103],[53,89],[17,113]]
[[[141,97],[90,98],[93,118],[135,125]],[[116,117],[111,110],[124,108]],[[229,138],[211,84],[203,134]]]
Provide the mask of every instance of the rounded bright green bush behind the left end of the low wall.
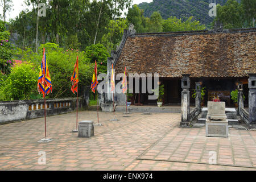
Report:
[[36,92],[38,72],[34,64],[16,65],[8,78],[2,82],[1,100],[29,100],[30,94]]

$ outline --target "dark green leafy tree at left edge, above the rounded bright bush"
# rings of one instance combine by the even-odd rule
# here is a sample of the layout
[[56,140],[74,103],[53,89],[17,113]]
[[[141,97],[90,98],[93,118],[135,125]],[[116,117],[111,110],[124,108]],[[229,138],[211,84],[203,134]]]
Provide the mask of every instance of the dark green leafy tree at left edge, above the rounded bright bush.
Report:
[[9,74],[13,67],[14,51],[11,48],[9,37],[10,32],[6,31],[5,22],[0,20],[0,74]]

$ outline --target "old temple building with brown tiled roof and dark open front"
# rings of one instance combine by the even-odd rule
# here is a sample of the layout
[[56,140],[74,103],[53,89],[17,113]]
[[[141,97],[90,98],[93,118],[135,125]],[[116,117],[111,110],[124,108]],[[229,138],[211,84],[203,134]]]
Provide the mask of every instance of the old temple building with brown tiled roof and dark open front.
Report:
[[[249,73],[256,73],[256,28],[234,30],[203,30],[187,32],[159,32],[138,34],[129,26],[115,51],[108,58],[108,77],[111,65],[115,74],[158,73],[159,82],[164,84],[164,105],[181,104],[181,78],[190,74],[191,105],[195,83],[205,87],[203,104],[219,97],[226,106],[233,107],[230,93],[243,83],[245,106],[248,105]],[[125,97],[115,94],[118,105],[125,104]],[[106,94],[104,102],[112,101]],[[131,99],[137,105],[156,105],[148,100],[148,93],[133,94]]]

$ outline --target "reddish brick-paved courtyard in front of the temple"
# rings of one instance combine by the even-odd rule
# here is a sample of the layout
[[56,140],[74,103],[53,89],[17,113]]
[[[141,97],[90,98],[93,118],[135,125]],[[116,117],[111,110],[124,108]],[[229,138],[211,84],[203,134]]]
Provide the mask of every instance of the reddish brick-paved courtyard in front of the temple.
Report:
[[[180,128],[180,114],[99,113],[103,126],[94,137],[71,131],[76,113],[0,125],[0,170],[256,170],[256,131],[229,129],[229,138],[205,137],[205,127]],[[79,121],[97,121],[96,111],[80,111]],[[40,165],[38,152],[46,152]],[[209,152],[217,163],[209,164]]]

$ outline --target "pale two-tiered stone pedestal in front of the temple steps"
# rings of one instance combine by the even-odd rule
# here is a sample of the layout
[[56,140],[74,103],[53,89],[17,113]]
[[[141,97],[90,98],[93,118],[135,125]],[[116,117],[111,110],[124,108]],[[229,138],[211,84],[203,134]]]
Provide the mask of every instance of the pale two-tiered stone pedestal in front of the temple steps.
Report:
[[225,114],[225,102],[208,102],[206,125],[207,137],[228,137],[228,120]]

